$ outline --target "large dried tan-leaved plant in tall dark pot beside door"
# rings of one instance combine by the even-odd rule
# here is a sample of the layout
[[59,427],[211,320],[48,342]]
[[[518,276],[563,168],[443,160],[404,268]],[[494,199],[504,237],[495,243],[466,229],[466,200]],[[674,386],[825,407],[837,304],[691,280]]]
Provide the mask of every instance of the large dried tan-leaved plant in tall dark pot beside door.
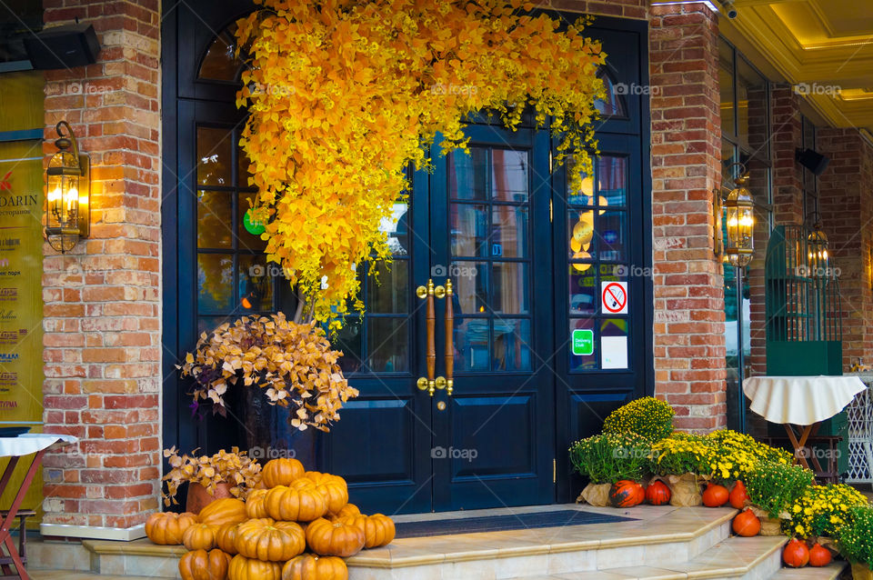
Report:
[[177,367],[195,380],[195,411],[203,401],[226,415],[227,388],[241,382],[264,389],[270,405],[293,405],[291,425],[297,429],[329,431],[340,407],[358,395],[336,364],[340,356],[314,321],[298,325],[277,313],[243,316],[203,333],[195,352]]

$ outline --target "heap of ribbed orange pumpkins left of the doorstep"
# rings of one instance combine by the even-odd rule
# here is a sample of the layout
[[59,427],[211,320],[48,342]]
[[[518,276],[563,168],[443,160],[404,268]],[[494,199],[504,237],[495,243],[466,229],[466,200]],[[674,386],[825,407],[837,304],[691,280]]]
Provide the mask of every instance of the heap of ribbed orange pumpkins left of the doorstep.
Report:
[[362,515],[349,504],[342,477],[274,459],[245,502],[223,498],[197,515],[153,514],[146,535],[185,545],[183,580],[346,580],[343,558],[389,544],[395,527],[386,515]]

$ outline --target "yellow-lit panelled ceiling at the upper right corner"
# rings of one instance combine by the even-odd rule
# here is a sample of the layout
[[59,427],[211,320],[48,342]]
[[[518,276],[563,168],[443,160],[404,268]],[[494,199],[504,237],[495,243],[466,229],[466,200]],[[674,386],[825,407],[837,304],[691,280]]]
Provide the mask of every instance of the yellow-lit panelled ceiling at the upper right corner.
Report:
[[[829,125],[873,133],[873,0],[736,0],[734,29]],[[728,35],[728,38],[730,35]],[[750,56],[750,55],[749,55]],[[758,63],[756,63],[758,65]]]

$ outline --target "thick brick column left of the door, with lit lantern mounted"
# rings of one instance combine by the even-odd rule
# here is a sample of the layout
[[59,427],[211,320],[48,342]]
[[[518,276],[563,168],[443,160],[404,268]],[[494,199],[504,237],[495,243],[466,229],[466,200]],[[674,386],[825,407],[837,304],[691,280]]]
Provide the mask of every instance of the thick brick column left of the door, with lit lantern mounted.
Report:
[[45,153],[65,119],[91,156],[91,236],[45,245],[45,457],[55,524],[128,528],[158,506],[161,442],[159,4],[45,0],[45,25],[93,24],[95,65],[46,73]]

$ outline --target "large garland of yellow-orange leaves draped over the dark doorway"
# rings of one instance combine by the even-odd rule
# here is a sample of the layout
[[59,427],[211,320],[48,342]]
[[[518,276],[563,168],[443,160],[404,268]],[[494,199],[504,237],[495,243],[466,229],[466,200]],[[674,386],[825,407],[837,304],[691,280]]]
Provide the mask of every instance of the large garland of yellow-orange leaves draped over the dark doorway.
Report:
[[236,30],[253,212],[317,320],[335,328],[350,302],[363,308],[356,265],[390,255],[379,225],[409,165],[430,166],[437,134],[443,153],[467,150],[468,115],[514,129],[530,105],[557,162],[577,167],[574,190],[592,175],[605,55],[585,19],[563,26],[521,0],[255,1],[265,9]]

